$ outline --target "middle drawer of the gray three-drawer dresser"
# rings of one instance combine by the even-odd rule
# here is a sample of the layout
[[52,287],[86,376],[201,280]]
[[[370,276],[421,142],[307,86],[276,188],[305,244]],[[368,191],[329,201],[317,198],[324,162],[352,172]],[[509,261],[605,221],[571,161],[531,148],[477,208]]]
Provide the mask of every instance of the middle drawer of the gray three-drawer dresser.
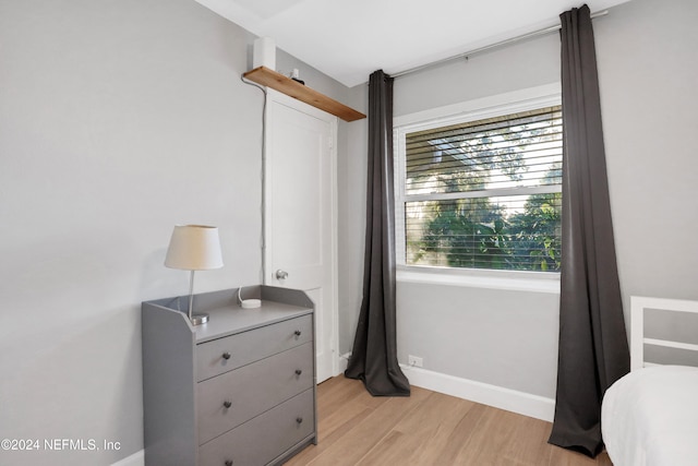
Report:
[[312,343],[200,382],[198,443],[311,389],[313,383]]

